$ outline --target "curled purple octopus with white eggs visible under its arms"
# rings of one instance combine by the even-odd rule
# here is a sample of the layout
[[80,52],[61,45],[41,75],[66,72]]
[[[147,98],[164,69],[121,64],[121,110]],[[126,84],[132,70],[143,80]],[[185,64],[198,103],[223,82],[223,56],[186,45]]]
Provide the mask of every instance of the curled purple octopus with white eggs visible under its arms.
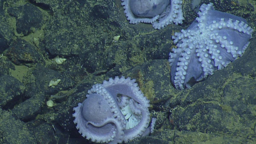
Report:
[[74,108],[79,133],[93,142],[117,144],[153,132],[156,119],[149,126],[149,100],[135,81],[115,77],[93,85]]

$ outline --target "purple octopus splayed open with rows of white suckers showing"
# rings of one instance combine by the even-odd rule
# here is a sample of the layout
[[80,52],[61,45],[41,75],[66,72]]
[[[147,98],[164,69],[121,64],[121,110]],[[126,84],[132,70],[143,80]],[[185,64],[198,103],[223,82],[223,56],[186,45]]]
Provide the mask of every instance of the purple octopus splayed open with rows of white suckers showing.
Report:
[[213,3],[203,4],[200,11],[186,30],[172,36],[178,48],[169,54],[171,80],[178,89],[189,88],[235,61],[252,38],[253,29],[244,18],[216,11]]

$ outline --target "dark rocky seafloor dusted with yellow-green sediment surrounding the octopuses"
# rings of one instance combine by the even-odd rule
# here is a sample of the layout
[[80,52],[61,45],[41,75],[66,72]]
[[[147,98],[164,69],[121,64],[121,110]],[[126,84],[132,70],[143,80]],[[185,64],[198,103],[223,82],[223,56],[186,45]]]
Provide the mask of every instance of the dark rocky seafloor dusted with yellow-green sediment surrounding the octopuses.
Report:
[[255,32],[244,55],[223,70],[183,91],[171,84],[172,35],[209,2],[256,29],[254,0],[183,1],[183,24],[161,30],[129,24],[121,0],[0,0],[0,143],[89,144],[73,107],[92,85],[115,76],[136,79],[157,118],[154,133],[130,144],[256,143]]

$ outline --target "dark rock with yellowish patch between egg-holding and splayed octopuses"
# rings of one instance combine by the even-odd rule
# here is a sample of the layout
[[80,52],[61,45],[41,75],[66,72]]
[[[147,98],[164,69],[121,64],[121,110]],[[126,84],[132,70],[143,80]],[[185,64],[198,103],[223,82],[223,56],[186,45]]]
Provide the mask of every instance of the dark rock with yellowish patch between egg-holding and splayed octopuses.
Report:
[[159,103],[169,99],[172,94],[180,92],[172,86],[169,71],[169,62],[159,59],[134,67],[126,71],[123,76],[136,79],[150,103]]

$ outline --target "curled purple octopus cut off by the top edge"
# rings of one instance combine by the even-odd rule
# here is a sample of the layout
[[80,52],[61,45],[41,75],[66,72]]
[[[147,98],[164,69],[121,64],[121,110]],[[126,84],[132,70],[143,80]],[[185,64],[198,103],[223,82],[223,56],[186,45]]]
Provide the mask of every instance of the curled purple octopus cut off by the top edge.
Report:
[[182,24],[182,0],[122,0],[131,24],[151,23],[155,29],[175,23]]

